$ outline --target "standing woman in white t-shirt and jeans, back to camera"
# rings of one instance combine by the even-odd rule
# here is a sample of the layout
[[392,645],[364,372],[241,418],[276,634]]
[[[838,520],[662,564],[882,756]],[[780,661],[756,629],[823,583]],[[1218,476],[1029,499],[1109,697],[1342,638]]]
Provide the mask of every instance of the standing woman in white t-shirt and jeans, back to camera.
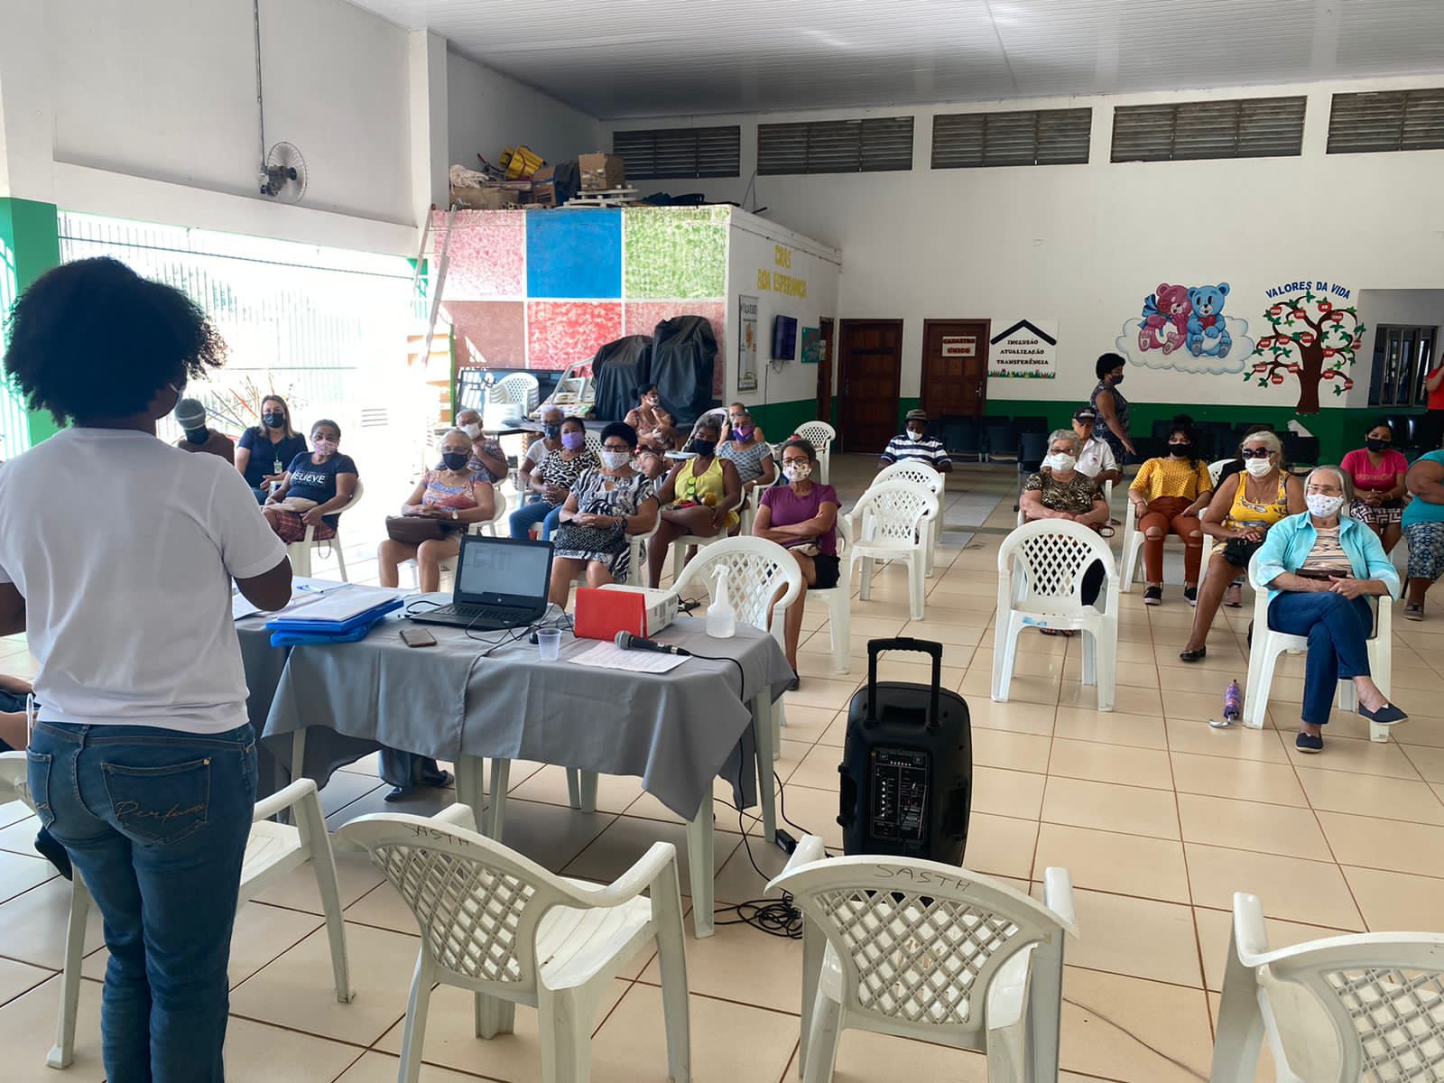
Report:
[[231,579],[277,609],[290,565],[230,464],[156,439],[224,352],[185,295],[103,258],[26,290],[4,358],[30,409],[71,425],[0,471],[0,635],[39,660],[30,790],[105,920],[111,1083],[224,1077],[256,803]]

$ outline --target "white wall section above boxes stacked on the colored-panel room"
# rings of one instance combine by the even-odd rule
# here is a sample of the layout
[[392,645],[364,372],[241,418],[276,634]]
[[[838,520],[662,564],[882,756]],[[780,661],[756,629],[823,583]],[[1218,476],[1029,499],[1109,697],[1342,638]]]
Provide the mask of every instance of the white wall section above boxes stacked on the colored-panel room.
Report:
[[547,162],[602,149],[599,121],[455,52],[446,56],[446,87],[451,162],[468,169],[477,155],[495,165],[517,143]]

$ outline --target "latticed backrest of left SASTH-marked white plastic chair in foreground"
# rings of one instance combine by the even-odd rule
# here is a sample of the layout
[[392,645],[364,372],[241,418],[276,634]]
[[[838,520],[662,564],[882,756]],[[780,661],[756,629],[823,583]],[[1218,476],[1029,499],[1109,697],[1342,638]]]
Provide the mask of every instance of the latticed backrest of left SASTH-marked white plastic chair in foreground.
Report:
[[593,905],[534,861],[456,825],[374,813],[342,825],[336,838],[371,852],[416,915],[426,950],[465,988],[534,991],[546,911]]

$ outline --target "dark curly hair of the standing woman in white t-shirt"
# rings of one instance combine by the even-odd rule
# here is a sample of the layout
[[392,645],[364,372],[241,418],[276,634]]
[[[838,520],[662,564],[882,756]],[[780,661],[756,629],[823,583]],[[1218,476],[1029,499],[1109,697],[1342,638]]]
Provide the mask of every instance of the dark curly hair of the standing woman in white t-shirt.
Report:
[[111,258],[48,270],[10,310],[4,368],[61,425],[142,413],[225,362],[225,342],[180,290]]

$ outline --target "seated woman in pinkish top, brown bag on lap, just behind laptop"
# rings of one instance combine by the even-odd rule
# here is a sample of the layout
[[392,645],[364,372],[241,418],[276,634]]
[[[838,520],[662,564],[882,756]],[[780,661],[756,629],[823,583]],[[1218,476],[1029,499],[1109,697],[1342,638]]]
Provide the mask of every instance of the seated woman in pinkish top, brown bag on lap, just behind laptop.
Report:
[[[416,562],[416,579],[423,593],[442,589],[440,562],[461,552],[461,536],[472,523],[485,523],[495,511],[491,482],[471,469],[471,439],[461,429],[442,438],[442,461],[416,482],[401,505],[401,516],[438,524],[436,537],[406,542],[387,537],[377,549],[381,586],[400,586],[400,565]],[[397,531],[400,533],[400,531]]]

